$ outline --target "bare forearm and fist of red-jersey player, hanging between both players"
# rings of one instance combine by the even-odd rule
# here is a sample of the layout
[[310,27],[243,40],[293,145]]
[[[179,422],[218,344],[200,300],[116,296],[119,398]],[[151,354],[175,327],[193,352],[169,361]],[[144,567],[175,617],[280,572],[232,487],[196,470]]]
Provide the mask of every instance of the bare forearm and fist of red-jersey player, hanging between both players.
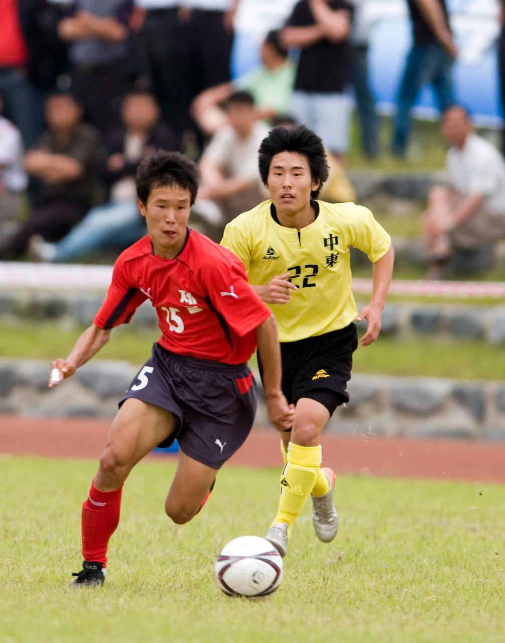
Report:
[[269,420],[278,431],[288,431],[294,419],[294,405],[287,403],[281,388],[281,349],[273,315],[256,327],[256,340],[263,362],[263,389],[267,397]]

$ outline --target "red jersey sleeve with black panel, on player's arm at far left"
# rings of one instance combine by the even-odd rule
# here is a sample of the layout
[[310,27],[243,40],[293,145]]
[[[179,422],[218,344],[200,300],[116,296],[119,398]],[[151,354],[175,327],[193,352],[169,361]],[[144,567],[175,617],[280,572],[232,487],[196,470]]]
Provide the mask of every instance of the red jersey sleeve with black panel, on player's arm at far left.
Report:
[[146,298],[144,293],[128,284],[123,263],[118,261],[112,271],[112,282],[107,297],[93,323],[104,331],[122,323],[129,323],[136,309]]

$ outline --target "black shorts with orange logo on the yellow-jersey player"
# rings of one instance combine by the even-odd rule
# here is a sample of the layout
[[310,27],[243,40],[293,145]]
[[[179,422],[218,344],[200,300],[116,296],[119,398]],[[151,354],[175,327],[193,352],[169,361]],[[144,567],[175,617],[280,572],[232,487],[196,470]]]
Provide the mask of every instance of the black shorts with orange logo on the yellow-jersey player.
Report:
[[[354,323],[304,340],[281,342],[282,390],[288,403],[309,397],[332,415],[337,406],[349,401],[346,388],[357,347]],[[259,355],[258,365],[261,374]]]

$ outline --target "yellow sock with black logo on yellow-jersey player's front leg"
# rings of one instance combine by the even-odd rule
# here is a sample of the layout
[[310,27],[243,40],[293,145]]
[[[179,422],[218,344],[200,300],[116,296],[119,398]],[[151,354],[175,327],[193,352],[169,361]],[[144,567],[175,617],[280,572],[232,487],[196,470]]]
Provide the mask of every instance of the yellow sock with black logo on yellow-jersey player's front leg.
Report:
[[[300,446],[289,443],[287,462],[281,475],[281,498],[274,520],[288,525],[288,535],[310,496],[321,466],[321,445]],[[273,523],[272,523],[273,524]]]

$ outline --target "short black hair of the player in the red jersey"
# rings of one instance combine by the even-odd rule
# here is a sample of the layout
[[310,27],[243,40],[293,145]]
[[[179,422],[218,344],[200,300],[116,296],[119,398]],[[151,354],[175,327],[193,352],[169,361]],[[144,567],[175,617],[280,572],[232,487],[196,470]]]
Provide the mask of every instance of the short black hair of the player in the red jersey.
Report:
[[184,154],[155,150],[145,156],[137,167],[137,197],[146,204],[153,188],[177,186],[190,191],[193,205],[197,197],[199,179],[199,169]]

